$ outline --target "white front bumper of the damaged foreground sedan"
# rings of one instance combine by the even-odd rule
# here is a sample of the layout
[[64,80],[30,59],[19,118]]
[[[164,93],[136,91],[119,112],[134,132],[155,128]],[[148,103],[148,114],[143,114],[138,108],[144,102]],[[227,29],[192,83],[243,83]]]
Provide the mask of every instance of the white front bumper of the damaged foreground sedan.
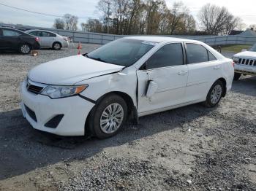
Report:
[[[80,96],[51,99],[46,95],[37,95],[26,89],[25,82],[20,87],[20,95],[23,116],[33,128],[60,136],[84,135],[86,117],[94,106],[91,102]],[[28,111],[28,108],[34,112],[36,119],[31,117],[31,111]],[[64,114],[64,117],[56,128],[45,126],[49,120],[60,114]]]

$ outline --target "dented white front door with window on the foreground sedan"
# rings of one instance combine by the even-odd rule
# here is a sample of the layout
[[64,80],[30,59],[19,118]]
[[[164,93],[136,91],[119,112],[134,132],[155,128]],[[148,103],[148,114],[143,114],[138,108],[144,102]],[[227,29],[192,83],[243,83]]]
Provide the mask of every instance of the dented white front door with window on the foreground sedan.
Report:
[[[188,68],[184,64],[182,44],[172,43],[161,47],[137,71],[137,76],[140,115],[184,103]],[[151,81],[157,84],[157,90],[147,98],[148,82]]]

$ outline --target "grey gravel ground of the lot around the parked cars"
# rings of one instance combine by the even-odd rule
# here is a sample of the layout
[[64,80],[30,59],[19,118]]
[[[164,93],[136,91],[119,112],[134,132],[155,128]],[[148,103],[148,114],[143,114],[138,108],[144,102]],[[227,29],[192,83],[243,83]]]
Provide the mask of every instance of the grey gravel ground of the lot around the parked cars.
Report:
[[31,67],[76,53],[1,53],[0,190],[256,190],[256,77],[233,82],[214,109],[140,117],[110,139],[34,130],[18,106],[20,82]]

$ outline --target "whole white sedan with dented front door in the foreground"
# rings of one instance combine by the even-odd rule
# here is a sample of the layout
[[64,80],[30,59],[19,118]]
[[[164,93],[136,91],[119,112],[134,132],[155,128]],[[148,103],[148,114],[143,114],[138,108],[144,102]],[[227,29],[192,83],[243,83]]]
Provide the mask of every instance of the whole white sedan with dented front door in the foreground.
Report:
[[132,36],[36,66],[21,86],[24,117],[61,136],[113,136],[124,122],[230,90],[233,61],[187,39]]

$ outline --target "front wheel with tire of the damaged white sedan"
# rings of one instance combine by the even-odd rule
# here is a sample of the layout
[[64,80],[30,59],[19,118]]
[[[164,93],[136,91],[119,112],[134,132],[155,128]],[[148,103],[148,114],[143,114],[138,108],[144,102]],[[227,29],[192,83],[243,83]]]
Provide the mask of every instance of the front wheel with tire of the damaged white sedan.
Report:
[[105,139],[116,135],[127,120],[127,104],[116,94],[108,95],[95,106],[89,126],[94,136]]

